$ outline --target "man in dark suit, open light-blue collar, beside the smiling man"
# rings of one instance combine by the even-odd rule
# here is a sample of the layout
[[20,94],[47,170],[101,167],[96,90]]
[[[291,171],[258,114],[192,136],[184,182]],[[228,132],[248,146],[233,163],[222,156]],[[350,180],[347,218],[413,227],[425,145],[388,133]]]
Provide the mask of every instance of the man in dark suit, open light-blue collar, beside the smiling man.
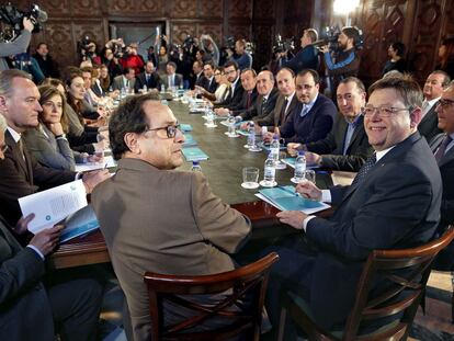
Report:
[[366,92],[356,77],[340,81],[337,89],[338,115],[331,132],[324,139],[306,145],[288,144],[291,155],[296,150],[306,150],[307,164],[326,169],[357,172],[372,155],[372,147],[364,132],[362,109]]

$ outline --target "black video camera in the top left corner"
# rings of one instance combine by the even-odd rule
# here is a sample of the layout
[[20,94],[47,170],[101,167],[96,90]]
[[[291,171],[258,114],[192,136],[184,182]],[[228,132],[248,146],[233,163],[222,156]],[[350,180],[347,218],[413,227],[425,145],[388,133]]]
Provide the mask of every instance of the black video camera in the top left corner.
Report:
[[39,9],[37,4],[32,4],[29,12],[18,10],[11,2],[0,7],[0,21],[12,27],[11,33],[2,34],[4,41],[11,41],[21,34],[24,29],[24,18],[29,18],[32,21],[34,25],[33,33],[36,33],[42,30],[41,24],[47,21],[47,13]]

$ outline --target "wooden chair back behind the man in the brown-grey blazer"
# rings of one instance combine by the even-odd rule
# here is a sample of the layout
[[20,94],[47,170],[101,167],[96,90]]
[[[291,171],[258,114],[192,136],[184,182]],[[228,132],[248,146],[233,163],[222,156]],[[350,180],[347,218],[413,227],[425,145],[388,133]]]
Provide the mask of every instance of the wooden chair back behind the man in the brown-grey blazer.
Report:
[[[259,340],[268,276],[271,265],[277,260],[277,253],[272,252],[254,263],[234,271],[203,276],[175,276],[147,272],[144,282],[148,287],[152,340],[212,341],[227,340],[239,334],[246,334],[245,340]],[[224,294],[220,302],[211,306],[179,296],[191,295],[194,298],[193,295],[220,293]],[[246,295],[251,302],[248,311],[234,311],[231,307]],[[178,325],[164,326],[163,299],[190,309],[194,315]],[[193,327],[213,318],[224,318],[226,321],[231,319],[231,323],[209,331],[191,331]]]

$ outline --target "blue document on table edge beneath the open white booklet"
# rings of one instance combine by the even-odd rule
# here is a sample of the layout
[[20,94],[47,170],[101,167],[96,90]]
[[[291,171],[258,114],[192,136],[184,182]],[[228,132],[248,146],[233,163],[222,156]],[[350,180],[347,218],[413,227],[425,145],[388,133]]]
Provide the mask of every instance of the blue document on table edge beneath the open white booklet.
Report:
[[61,230],[60,242],[86,235],[100,227],[94,209],[91,205],[79,209],[65,220],[65,228]]

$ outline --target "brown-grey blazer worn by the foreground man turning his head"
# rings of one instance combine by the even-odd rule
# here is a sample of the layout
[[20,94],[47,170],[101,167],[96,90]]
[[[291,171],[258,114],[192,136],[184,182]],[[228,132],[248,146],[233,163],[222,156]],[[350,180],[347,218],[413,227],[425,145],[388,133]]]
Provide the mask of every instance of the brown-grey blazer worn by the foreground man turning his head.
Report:
[[159,170],[139,159],[121,159],[116,174],[94,189],[92,204],[126,295],[135,340],[150,339],[146,271],[203,275],[232,270],[228,253],[250,232],[249,219],[215,196],[202,173]]

